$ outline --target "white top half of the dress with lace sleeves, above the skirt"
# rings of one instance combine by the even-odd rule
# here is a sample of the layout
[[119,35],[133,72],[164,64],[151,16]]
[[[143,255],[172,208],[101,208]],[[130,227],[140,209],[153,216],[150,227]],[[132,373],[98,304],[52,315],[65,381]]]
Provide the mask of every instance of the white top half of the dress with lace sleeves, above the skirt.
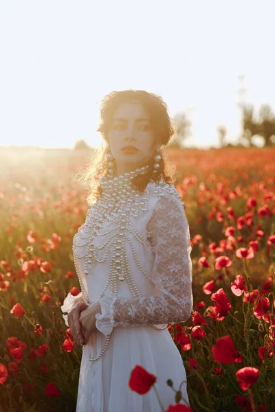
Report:
[[[148,183],[146,196],[146,207],[130,214],[129,222],[104,222],[89,249],[88,219],[74,237],[82,297],[87,304],[99,301],[96,327],[106,336],[120,326],[179,323],[192,312],[192,247],[184,202],[168,184]],[[63,311],[73,302],[69,293]]]

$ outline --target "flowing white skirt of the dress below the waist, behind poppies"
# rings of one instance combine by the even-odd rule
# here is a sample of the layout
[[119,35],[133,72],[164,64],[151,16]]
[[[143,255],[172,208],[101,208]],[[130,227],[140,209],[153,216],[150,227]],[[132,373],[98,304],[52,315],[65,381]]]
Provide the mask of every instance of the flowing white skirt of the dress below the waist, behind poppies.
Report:
[[107,349],[97,361],[106,337],[99,331],[89,337],[80,366],[76,412],[161,412],[153,387],[140,395],[129,387],[135,365],[157,376],[154,384],[164,410],[175,404],[175,392],[168,387],[173,381],[189,406],[186,370],[168,329],[156,330],[149,325],[114,328]]

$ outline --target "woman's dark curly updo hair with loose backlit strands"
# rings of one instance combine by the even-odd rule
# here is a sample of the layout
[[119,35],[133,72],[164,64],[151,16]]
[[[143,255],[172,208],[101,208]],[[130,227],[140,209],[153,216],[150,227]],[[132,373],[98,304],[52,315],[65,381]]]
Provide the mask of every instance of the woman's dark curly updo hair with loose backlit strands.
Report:
[[[109,146],[109,127],[113,119],[113,114],[125,102],[139,102],[146,111],[159,146],[165,146],[170,141],[175,133],[172,121],[168,115],[167,105],[162,98],[154,93],[148,93],[144,90],[127,89],[123,91],[112,91],[105,95],[100,106],[100,125],[97,129],[103,138],[106,146],[101,149],[93,150],[90,155],[89,165],[87,170],[78,172],[74,176],[76,181],[80,181],[89,194],[87,203],[91,205],[102,194],[100,179],[108,172],[107,153],[110,152]],[[103,142],[102,142],[103,143]],[[146,174],[140,174],[132,179],[132,185],[143,192],[149,181],[164,180],[167,183],[175,183],[175,166],[168,162],[168,159],[162,155],[162,159],[158,162],[159,168],[156,173],[154,170],[154,157],[147,161],[144,165],[149,165]],[[170,174],[170,176],[169,176]]]

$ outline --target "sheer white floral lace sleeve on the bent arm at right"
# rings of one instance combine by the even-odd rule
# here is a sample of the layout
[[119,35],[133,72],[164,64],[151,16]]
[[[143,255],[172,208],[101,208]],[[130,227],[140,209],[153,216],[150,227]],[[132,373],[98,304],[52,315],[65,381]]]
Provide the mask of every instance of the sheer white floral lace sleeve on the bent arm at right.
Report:
[[[102,313],[96,314],[96,326],[137,323],[166,324],[186,321],[192,312],[192,261],[188,221],[179,199],[168,196],[157,201],[147,233],[155,254],[151,279],[160,295],[120,300],[108,290],[99,299]],[[106,310],[106,306],[109,306]]]

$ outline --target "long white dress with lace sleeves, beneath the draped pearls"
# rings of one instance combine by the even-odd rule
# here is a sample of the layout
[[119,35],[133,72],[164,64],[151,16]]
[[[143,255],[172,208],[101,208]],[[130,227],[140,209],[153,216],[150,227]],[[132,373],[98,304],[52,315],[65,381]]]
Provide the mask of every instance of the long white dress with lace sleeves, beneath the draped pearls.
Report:
[[[135,230],[127,233],[125,243],[129,268],[142,297],[133,298],[124,281],[118,284],[118,297],[107,289],[98,299],[107,283],[113,246],[108,252],[110,258],[96,262],[85,279],[81,279],[90,302],[99,300],[102,314],[96,314],[98,331],[91,334],[83,352],[77,412],[162,411],[153,388],[144,395],[129,388],[135,365],[142,365],[157,376],[155,387],[165,409],[175,404],[175,393],[166,381],[172,379],[174,388],[179,389],[186,380],[185,367],[170,332],[151,325],[179,323],[190,317],[193,304],[190,233],[179,198],[167,191],[162,196],[156,195],[155,185],[150,182],[146,187],[147,211],[137,219],[130,217]],[[94,238],[95,247],[108,241],[112,231],[107,229],[109,226],[100,229]],[[107,247],[100,253],[104,249]],[[63,312],[69,312],[75,299],[70,293],[67,295],[61,306]],[[63,317],[68,326],[67,314]],[[100,354],[110,332],[102,357],[89,361],[88,356],[95,358]],[[181,392],[188,401],[186,383],[181,385]]]

